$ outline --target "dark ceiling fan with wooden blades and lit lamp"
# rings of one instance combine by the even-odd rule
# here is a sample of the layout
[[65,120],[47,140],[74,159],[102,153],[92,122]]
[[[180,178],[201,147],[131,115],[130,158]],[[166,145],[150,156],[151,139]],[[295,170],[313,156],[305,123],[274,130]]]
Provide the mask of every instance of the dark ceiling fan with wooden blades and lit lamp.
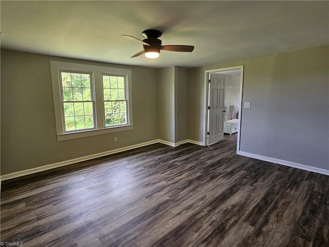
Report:
[[147,58],[157,58],[160,56],[160,50],[169,50],[169,51],[182,51],[182,52],[191,52],[194,49],[192,45],[161,45],[162,41],[158,38],[162,35],[162,32],[155,29],[148,29],[142,32],[142,36],[146,39],[140,40],[133,36],[122,34],[122,36],[135,40],[143,44],[143,50],[133,55],[132,58],[138,57],[142,54],[145,54]]

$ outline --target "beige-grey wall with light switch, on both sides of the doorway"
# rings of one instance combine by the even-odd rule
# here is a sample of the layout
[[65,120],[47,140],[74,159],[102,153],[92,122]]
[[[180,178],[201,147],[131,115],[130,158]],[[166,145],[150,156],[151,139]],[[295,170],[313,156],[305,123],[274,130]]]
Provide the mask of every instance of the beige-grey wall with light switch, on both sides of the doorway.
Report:
[[329,170],[328,46],[191,69],[190,139],[203,141],[204,71],[244,65],[240,150]]

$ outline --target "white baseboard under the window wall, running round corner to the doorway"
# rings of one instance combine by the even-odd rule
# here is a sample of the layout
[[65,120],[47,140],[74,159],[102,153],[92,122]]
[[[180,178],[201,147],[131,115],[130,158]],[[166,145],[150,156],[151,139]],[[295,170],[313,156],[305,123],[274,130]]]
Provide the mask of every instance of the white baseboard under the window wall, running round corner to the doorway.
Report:
[[196,142],[195,140],[183,140],[178,143],[171,143],[171,142],[167,142],[166,140],[156,139],[156,140],[151,140],[150,142],[140,143],[140,144],[124,147],[124,148],[118,148],[118,149],[109,150],[109,151],[105,151],[105,152],[101,152],[101,153],[95,153],[95,154],[91,154],[91,155],[87,155],[87,156],[83,156],[83,157],[79,157],[79,158],[72,158],[72,160],[67,160],[67,161],[53,163],[53,164],[49,164],[49,165],[45,165],[45,166],[35,167],[35,168],[23,170],[23,171],[16,171],[16,172],[8,173],[5,175],[1,175],[0,181],[14,179],[14,178],[22,177],[22,176],[29,175],[32,173],[46,171],[46,170],[58,168],[61,166],[67,166],[67,165],[75,164],[78,162],[88,161],[88,160],[92,160],[93,158],[99,158],[99,157],[106,156],[109,154],[120,153],[123,151],[140,148],[140,147],[144,147],[144,146],[148,146],[148,145],[156,144],[156,143],[162,143],[162,144],[172,146],[172,147],[177,147],[177,146],[179,146],[181,144],[185,144],[185,143],[192,143],[192,144],[200,145],[199,142]]

